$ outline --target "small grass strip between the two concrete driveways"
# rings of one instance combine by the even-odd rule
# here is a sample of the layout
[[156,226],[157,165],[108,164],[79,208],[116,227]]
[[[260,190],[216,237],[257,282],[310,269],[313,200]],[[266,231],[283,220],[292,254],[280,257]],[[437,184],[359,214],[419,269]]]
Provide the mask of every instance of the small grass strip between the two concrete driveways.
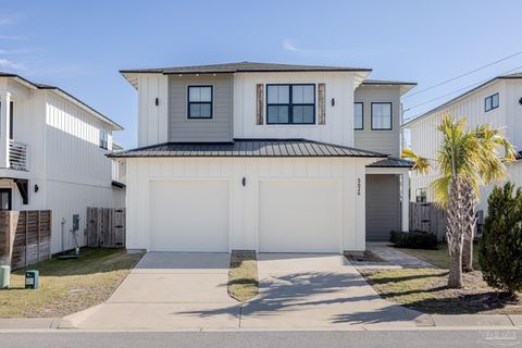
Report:
[[228,271],[228,295],[245,302],[258,295],[256,252],[233,251]]

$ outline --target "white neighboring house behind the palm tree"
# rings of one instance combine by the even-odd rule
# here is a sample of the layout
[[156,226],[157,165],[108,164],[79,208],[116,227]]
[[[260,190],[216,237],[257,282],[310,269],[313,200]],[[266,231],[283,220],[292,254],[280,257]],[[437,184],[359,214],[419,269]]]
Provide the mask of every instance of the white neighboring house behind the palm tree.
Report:
[[[502,75],[473,88],[448,102],[406,123],[402,128],[409,129],[411,149],[421,157],[436,159],[440,145],[440,133],[436,130],[444,114],[453,117],[465,117],[470,128],[481,124],[490,124],[501,129],[505,136],[522,149],[522,73]],[[431,183],[437,178],[438,172],[426,175],[411,173],[411,200],[433,201]],[[522,161],[508,167],[508,178],[517,186],[522,186]],[[500,184],[500,183],[498,183]],[[481,191],[478,209],[487,211],[487,197],[494,185]]]

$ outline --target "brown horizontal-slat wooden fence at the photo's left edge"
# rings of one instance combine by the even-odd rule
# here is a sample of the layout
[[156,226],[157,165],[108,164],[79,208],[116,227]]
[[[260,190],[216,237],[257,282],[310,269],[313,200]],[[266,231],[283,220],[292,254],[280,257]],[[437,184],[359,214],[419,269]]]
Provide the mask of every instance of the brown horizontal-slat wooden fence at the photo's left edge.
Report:
[[50,210],[0,211],[0,264],[12,270],[51,257]]

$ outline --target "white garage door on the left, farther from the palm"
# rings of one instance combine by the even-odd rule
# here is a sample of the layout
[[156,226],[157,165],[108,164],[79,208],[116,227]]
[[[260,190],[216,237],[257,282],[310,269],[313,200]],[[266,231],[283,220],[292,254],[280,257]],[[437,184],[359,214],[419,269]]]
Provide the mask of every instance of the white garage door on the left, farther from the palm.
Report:
[[150,250],[228,251],[228,183],[150,184]]

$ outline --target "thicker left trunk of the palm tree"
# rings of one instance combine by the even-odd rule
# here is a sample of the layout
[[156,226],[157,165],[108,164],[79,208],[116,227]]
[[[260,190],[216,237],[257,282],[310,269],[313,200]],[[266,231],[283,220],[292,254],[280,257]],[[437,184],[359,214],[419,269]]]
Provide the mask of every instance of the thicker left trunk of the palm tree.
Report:
[[446,239],[450,257],[448,287],[462,287],[462,245],[465,216],[463,211],[463,185],[459,178],[449,185],[448,225]]

